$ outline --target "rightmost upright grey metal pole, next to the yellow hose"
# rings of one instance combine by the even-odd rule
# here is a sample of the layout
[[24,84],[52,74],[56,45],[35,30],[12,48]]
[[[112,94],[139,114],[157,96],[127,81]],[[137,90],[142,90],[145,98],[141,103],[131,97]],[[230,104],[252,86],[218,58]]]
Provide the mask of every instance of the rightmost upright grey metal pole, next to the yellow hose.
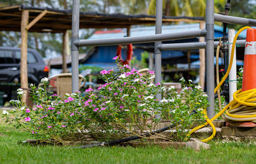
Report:
[[206,74],[207,94],[210,107],[207,115],[214,117],[214,0],[207,0],[205,13],[206,34]]

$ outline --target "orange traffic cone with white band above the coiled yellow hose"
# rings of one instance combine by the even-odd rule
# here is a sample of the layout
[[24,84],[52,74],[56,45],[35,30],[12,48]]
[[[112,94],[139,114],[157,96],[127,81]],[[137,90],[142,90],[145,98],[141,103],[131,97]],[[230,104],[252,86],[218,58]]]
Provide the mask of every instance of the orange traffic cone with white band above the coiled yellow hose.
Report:
[[256,29],[246,33],[242,91],[256,88]]

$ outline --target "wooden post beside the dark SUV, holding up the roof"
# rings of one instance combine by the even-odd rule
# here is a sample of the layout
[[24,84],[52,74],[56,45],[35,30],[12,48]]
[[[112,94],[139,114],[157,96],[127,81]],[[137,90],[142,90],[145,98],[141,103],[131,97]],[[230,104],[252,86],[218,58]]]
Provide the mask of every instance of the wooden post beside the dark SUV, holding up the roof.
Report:
[[25,94],[22,96],[22,100],[26,101],[28,94],[28,26],[29,11],[23,10],[20,22],[20,33],[21,33],[21,46],[20,46],[20,87],[24,89]]

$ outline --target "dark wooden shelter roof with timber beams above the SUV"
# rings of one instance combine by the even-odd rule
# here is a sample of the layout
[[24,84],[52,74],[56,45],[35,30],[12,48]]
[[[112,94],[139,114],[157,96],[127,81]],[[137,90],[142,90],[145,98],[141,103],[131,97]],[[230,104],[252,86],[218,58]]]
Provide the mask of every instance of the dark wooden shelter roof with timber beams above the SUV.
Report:
[[[72,10],[56,10],[32,6],[6,6],[0,8],[0,31],[20,31],[22,11],[29,11],[29,32],[63,33],[72,29]],[[129,28],[132,25],[155,24],[154,15],[124,15],[80,12],[79,29],[85,28]],[[204,22],[204,17],[165,17],[163,23]]]

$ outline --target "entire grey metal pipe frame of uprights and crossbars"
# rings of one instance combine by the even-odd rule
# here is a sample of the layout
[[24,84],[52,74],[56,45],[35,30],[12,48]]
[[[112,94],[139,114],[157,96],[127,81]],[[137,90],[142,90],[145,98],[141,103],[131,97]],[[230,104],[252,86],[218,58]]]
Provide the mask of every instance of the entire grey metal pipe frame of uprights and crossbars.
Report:
[[[156,34],[148,36],[134,36],[125,38],[111,38],[98,40],[80,40],[79,39],[79,0],[73,0],[72,8],[72,93],[79,90],[79,71],[78,71],[78,52],[79,47],[96,45],[120,45],[127,43],[148,43],[155,41],[155,72],[156,83],[161,83],[161,51],[163,50],[193,50],[206,48],[206,82],[207,95],[210,106],[207,108],[209,118],[214,117],[214,47],[218,45],[214,42],[214,20],[228,24],[241,24],[246,26],[256,26],[256,20],[244,19],[239,17],[230,17],[227,15],[214,14],[214,0],[207,0],[205,11],[205,29],[196,31],[161,34],[163,17],[163,0],[156,1]],[[195,38],[205,36],[205,43],[173,43],[162,44],[166,40],[182,40],[184,38]],[[237,44],[244,46],[245,40],[237,41]],[[161,94],[156,95],[161,99]]]

